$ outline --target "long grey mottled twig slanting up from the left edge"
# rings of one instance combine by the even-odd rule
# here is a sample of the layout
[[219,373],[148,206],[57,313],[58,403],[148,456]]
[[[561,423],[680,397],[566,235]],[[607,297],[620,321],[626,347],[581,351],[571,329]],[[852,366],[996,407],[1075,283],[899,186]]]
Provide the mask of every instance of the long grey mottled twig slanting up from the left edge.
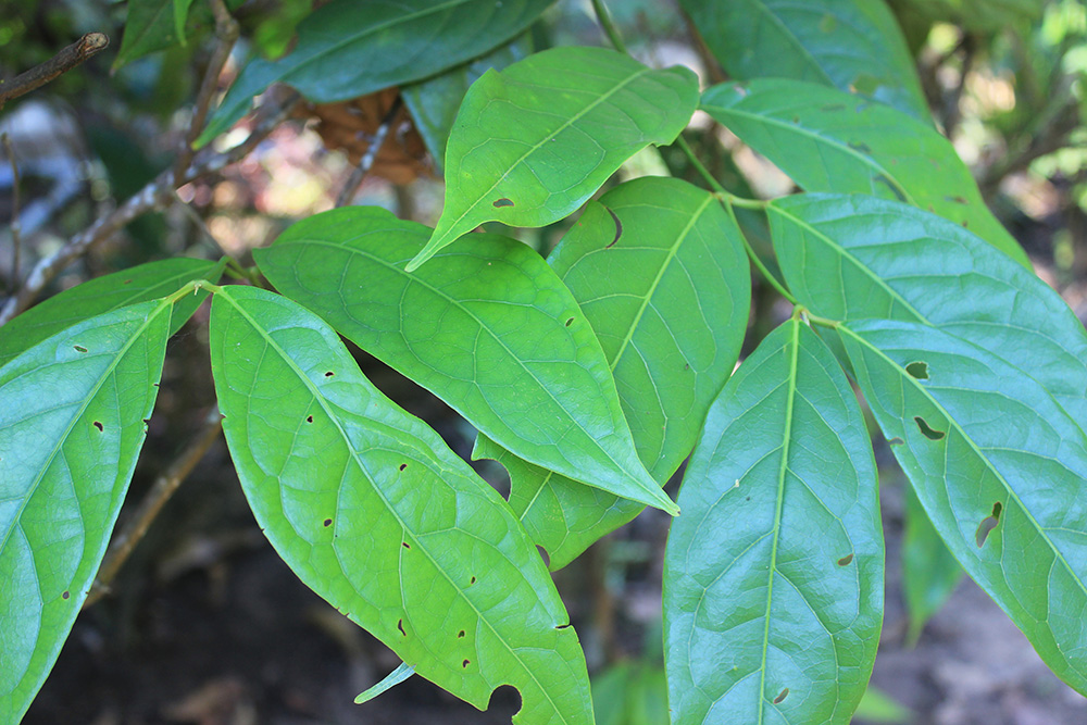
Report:
[[258,112],[258,122],[253,126],[252,133],[242,143],[223,153],[215,153],[209,149],[207,153],[197,154],[192,164],[179,177],[173,168],[162,172],[112,213],[73,237],[68,243],[52,255],[39,261],[30,271],[23,288],[10,297],[0,309],[0,325],[5,324],[29,307],[46,285],[52,282],[72,261],[108,239],[137,216],[168,203],[174,189],[207,174],[220,172],[248,155],[290,114],[290,110],[298,102],[298,93],[291,92],[279,103],[262,107],[261,111]]

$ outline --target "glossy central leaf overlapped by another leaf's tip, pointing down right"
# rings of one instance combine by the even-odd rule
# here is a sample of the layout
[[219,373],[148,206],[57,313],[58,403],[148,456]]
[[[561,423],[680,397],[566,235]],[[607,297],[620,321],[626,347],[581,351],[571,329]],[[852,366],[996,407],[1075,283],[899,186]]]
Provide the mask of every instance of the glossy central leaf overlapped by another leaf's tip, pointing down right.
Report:
[[254,257],[279,291],[521,458],[675,513],[638,460],[600,343],[554,272],[497,235],[404,272],[429,232],[373,207],[337,209]]

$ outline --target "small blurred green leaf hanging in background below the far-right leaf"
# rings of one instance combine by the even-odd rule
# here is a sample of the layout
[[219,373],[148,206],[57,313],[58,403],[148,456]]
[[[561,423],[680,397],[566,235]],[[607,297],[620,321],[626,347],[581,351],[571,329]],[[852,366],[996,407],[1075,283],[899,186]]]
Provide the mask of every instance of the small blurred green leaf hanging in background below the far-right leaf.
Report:
[[962,566],[936,533],[910,485],[902,532],[902,595],[910,615],[905,640],[915,643],[925,623],[947,602],[962,579]]

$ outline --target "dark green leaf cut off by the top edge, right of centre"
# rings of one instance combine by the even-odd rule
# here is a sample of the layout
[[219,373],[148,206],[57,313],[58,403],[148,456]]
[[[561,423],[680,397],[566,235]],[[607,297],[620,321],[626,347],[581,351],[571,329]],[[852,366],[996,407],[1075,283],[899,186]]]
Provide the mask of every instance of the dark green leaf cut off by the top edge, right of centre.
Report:
[[905,38],[883,0],[680,0],[736,80],[808,80],[887,103],[929,123]]

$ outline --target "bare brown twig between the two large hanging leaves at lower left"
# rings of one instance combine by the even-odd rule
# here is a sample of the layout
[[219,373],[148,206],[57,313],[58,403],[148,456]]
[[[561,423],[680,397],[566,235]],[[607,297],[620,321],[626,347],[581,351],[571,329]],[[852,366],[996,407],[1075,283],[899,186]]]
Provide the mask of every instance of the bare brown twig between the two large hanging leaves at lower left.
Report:
[[98,570],[98,576],[91,584],[90,592],[84,601],[84,609],[90,607],[110,591],[110,585],[116,577],[121,566],[127,561],[133,549],[139,540],[147,534],[148,527],[155,516],[165,505],[170,497],[174,495],[182,482],[185,480],[192,468],[196,467],[200,459],[204,457],[212,443],[218,439],[218,434],[223,429],[223,416],[218,413],[218,407],[212,408],[204,418],[203,425],[197,432],[189,445],[185,447],[180,455],[174,459],[173,463],[154,480],[151,489],[143,496],[139,507],[133,517],[125,522],[121,533],[117,534],[110,548],[105,552],[102,565]]

